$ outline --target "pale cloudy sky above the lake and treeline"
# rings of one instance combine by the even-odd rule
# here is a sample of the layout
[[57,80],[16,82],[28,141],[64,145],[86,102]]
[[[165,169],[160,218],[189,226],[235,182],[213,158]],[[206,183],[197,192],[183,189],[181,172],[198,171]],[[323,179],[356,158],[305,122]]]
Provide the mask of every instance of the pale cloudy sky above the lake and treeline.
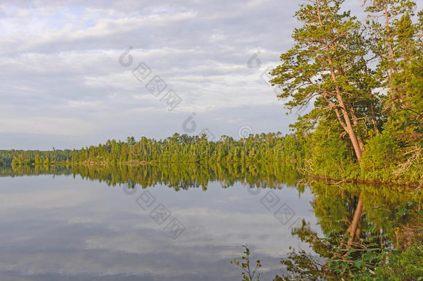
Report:
[[301,112],[286,114],[268,71],[298,3],[1,1],[0,149],[289,133]]

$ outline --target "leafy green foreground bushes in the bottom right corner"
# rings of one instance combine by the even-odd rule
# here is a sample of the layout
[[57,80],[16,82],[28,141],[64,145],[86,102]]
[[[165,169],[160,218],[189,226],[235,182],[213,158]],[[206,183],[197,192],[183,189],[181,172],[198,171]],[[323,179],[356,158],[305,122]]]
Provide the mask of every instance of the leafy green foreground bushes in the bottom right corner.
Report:
[[[374,210],[377,209],[367,214]],[[423,230],[423,210],[419,203],[410,201],[397,205],[392,215],[395,228],[401,228],[408,221]],[[378,219],[381,218],[374,217],[375,221]],[[374,220],[363,219],[366,226],[359,239],[352,239],[342,225],[326,228],[324,237],[318,237],[303,220],[302,226],[293,229],[293,235],[310,244],[313,253],[291,250],[281,262],[287,273],[282,277],[277,275],[274,281],[423,280],[422,235],[413,237],[404,250],[395,249],[388,233],[379,230]]]

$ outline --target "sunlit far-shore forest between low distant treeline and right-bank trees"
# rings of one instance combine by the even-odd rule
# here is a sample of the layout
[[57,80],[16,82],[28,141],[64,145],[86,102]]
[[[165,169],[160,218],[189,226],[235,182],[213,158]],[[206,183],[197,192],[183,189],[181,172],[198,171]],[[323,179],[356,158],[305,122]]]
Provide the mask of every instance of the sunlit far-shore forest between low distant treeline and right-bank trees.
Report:
[[301,164],[303,148],[293,135],[280,133],[250,135],[235,140],[223,135],[216,142],[205,135],[189,136],[175,133],[167,139],[147,139],[136,142],[109,140],[105,144],[74,151],[72,162],[105,163],[189,163],[189,162],[278,162],[284,167]]

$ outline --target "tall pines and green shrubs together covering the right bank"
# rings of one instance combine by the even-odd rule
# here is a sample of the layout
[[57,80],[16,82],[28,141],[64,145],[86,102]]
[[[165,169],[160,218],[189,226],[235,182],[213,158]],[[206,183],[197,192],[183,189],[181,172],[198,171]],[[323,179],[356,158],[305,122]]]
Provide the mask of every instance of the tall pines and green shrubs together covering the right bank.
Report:
[[356,21],[341,0],[310,0],[295,13],[292,48],[270,81],[293,110],[309,173],[423,184],[423,11],[408,0],[364,1]]

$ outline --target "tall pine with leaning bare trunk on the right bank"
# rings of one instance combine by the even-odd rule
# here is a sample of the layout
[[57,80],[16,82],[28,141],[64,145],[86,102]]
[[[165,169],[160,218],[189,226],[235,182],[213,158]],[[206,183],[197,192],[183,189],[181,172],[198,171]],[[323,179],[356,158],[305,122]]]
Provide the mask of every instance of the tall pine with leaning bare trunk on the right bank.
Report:
[[367,67],[363,28],[349,12],[340,12],[342,3],[308,0],[300,5],[295,16],[304,25],[293,32],[295,44],[282,53],[282,65],[273,69],[270,82],[282,90],[279,98],[290,98],[288,109],[314,102],[307,116],[336,119],[361,162],[365,128],[374,124],[371,111],[379,101],[372,94],[377,85]]

